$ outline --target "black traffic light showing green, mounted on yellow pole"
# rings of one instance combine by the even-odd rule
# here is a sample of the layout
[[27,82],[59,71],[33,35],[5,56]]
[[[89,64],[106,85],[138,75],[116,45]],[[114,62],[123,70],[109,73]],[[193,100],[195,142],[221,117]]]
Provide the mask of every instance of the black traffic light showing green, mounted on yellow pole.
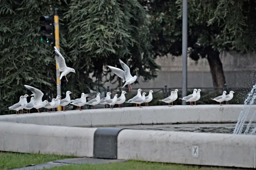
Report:
[[42,42],[46,42],[54,46],[54,19],[53,15],[40,17],[41,22],[41,40]]

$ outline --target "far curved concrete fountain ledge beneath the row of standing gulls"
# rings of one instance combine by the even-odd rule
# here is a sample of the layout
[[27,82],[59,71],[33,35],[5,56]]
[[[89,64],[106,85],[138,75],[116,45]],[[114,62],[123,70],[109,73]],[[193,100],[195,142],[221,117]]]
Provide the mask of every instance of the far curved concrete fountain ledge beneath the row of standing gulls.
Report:
[[[32,113],[24,115],[3,115],[0,121],[56,126],[111,126],[136,124],[166,124],[166,123],[210,123],[236,122],[244,105],[176,105],[125,107],[122,109],[92,109],[84,111],[67,111],[54,113]],[[250,105],[250,113],[256,110],[256,105]],[[256,121],[256,117],[253,121]]]

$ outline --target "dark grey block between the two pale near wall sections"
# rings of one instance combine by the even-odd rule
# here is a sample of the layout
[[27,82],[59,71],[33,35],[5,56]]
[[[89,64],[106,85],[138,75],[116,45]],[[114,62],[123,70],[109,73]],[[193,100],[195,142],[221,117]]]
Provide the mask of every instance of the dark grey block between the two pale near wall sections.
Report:
[[117,136],[126,128],[98,128],[93,136],[93,157],[117,159]]

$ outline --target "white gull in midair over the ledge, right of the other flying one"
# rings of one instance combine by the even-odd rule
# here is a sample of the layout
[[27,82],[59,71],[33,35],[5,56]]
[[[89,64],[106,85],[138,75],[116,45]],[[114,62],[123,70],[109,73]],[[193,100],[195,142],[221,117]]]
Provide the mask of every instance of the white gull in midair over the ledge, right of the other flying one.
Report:
[[[118,77],[122,78],[122,79],[123,79],[123,82],[126,81],[125,84],[124,84],[124,86],[126,86],[126,85],[128,84],[129,91],[131,91],[131,90],[132,90],[131,84],[132,84],[134,81],[136,81],[137,76],[135,75],[135,76],[132,77],[132,75],[131,75],[131,73],[130,73],[130,68],[129,68],[122,60],[119,59],[119,62],[120,62],[121,66],[122,66],[122,68],[123,68],[124,70],[121,70],[120,68],[116,68],[116,67],[112,67],[112,66],[108,66],[108,67],[109,67],[110,70],[111,70],[113,73],[115,73]],[[124,87],[124,86],[123,86],[123,87]],[[131,89],[130,89],[129,86],[131,87]],[[123,87],[122,87],[122,88],[123,88]]]

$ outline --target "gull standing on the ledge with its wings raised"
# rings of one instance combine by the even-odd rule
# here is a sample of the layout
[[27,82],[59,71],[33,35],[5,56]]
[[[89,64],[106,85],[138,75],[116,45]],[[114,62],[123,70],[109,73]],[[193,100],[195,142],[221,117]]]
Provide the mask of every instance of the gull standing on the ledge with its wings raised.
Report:
[[28,86],[28,85],[24,85],[24,86],[25,86],[26,89],[28,89],[32,93],[34,93],[34,107],[33,108],[37,109],[38,113],[41,113],[39,111],[40,108],[50,105],[47,100],[42,101],[44,93],[42,93],[41,90],[36,89],[34,87],[31,87],[31,86]]

